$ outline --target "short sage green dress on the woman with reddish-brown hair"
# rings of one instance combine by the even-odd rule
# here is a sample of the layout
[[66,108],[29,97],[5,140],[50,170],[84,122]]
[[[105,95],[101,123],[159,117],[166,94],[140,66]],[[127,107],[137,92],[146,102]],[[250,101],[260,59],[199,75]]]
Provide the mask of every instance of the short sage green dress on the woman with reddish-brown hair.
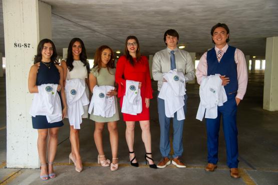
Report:
[[[110,73],[109,73],[110,72]],[[97,78],[97,85],[111,85],[115,86],[115,72],[116,68],[109,68],[109,71],[107,68],[101,68],[98,72],[97,67],[92,68],[91,73]],[[118,101],[117,96],[115,95],[115,107],[116,107],[116,113],[112,117],[102,117],[100,115],[94,115],[92,113],[90,114],[90,119],[96,121],[96,122],[110,122],[110,121],[117,121],[119,120],[119,110],[118,110]],[[95,107],[94,107],[95,108]]]

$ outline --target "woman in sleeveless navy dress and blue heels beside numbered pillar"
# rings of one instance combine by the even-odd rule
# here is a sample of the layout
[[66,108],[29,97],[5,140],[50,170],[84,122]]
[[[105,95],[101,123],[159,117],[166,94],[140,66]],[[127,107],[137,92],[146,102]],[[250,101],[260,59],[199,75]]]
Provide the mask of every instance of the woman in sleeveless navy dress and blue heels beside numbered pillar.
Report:
[[[28,88],[30,93],[38,93],[38,85],[54,83],[58,84],[57,91],[61,97],[63,105],[63,118],[67,112],[65,91],[63,87],[63,68],[56,60],[57,52],[54,43],[50,39],[40,41],[35,56],[34,65],[31,66],[28,78]],[[45,115],[32,116],[33,128],[38,129],[38,152],[41,160],[41,179],[48,180],[55,178],[53,161],[58,145],[58,130],[63,126],[62,121],[49,123]],[[47,136],[49,140],[47,142]],[[48,163],[46,151],[48,143]]]

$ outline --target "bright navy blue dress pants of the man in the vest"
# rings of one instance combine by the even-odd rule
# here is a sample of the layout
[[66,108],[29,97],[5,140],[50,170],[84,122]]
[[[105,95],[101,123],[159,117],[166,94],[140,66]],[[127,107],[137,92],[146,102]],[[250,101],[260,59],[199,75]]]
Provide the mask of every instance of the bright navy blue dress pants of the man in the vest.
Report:
[[215,119],[206,118],[208,163],[216,164],[218,161],[218,136],[220,118],[222,115],[223,131],[226,143],[227,165],[230,168],[237,167],[238,164],[236,127],[237,105],[235,101],[235,95],[236,93],[227,95],[228,100],[224,102],[222,106],[218,106],[218,114]]

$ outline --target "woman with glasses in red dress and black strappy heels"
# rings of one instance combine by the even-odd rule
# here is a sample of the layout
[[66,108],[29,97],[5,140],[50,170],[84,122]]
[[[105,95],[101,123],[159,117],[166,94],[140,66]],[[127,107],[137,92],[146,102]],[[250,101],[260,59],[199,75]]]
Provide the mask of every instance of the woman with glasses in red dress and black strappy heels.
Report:
[[142,139],[145,144],[145,160],[149,166],[156,168],[151,152],[151,132],[150,132],[150,99],[152,96],[151,77],[149,62],[146,56],[141,56],[139,41],[136,36],[128,36],[125,41],[125,55],[121,56],[117,62],[115,80],[118,83],[118,97],[122,107],[125,95],[126,80],[139,81],[139,88],[142,98],[142,112],[137,115],[123,113],[126,121],[126,141],[129,148],[130,164],[138,167],[133,151],[135,121],[139,121],[142,129]]

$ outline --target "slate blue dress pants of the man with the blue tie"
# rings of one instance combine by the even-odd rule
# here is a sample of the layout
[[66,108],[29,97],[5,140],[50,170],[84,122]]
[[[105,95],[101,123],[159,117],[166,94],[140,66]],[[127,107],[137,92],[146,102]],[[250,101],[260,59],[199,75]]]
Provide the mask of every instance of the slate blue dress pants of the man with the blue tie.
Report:
[[[159,91],[158,91],[159,94]],[[157,94],[157,96],[158,96]],[[184,114],[186,114],[186,100],[187,95],[184,95]],[[163,157],[170,158],[170,139],[169,139],[169,129],[170,129],[170,119],[171,117],[167,117],[165,115],[165,104],[164,99],[157,97],[157,105],[158,105],[158,117],[159,117],[159,124],[160,124],[160,152]],[[174,114],[173,117],[173,149],[174,154],[173,158],[177,156],[181,156],[183,152],[183,145],[182,145],[182,132],[183,132],[183,120],[177,120],[177,112]]]

